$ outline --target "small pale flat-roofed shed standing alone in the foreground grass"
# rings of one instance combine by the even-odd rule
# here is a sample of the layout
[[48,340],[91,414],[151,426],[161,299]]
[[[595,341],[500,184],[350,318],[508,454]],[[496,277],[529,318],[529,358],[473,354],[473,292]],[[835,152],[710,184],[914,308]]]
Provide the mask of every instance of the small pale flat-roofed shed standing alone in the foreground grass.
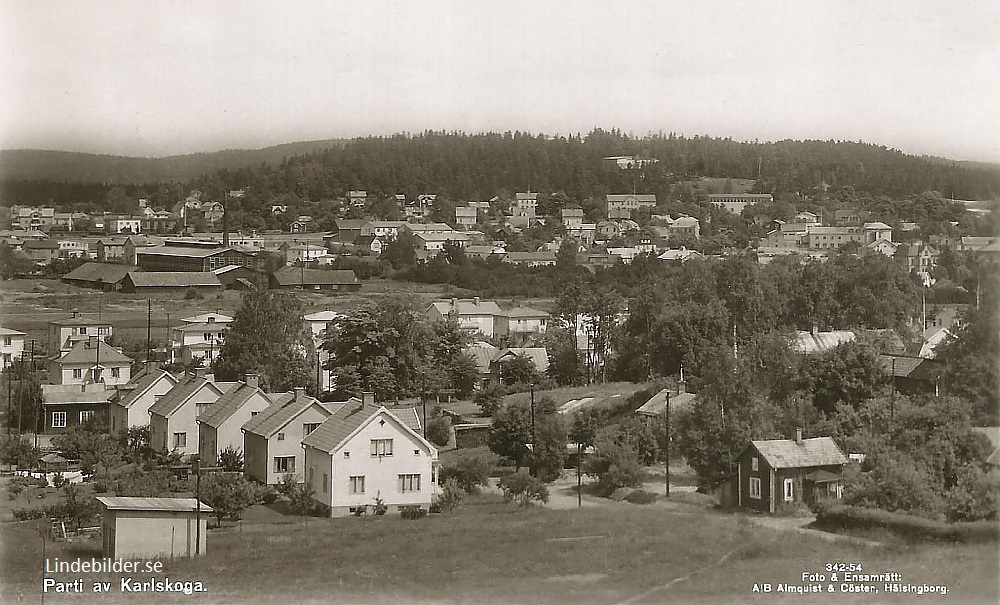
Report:
[[196,539],[200,539],[201,554],[206,552],[212,508],[201,503],[198,511],[195,498],[103,496],[97,501],[104,506],[101,533],[105,557],[192,557]]

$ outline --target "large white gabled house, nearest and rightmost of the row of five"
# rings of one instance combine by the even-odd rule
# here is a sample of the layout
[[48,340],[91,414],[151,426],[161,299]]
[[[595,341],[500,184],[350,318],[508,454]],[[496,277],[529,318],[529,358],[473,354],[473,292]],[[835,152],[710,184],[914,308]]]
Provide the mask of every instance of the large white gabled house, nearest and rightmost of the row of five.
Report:
[[437,491],[437,448],[385,407],[348,402],[302,447],[313,498],[329,506],[331,516],[371,507],[376,499],[390,511],[429,507]]

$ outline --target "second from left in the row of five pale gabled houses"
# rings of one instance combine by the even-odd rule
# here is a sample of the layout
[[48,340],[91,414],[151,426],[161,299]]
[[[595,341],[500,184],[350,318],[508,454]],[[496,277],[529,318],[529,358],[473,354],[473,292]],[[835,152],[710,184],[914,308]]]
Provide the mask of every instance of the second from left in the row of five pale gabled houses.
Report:
[[198,416],[219,400],[231,382],[188,377],[149,408],[149,445],[160,452],[198,453]]

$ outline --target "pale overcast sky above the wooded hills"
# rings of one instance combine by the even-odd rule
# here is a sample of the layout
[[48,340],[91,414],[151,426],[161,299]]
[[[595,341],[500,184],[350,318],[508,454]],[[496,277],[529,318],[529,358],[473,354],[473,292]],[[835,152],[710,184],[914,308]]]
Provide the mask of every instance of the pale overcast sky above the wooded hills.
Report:
[[1000,161],[998,0],[0,7],[8,149],[600,126]]

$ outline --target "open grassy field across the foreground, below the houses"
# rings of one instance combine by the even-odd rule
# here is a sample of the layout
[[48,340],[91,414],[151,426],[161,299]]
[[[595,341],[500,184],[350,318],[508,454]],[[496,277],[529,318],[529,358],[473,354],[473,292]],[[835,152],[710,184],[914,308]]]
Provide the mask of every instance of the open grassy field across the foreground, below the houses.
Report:
[[[251,519],[257,519],[252,521]],[[49,543],[48,556],[99,556]],[[725,555],[729,558],[719,563]],[[739,516],[628,504],[581,510],[468,506],[404,521],[248,515],[212,530],[199,561],[167,561],[194,595],[53,595],[49,603],[906,603],[913,595],[755,594],[754,583],[800,583],[826,563],[858,562],[904,581],[944,584],[921,602],[996,603],[995,545],[861,547],[751,526]],[[30,527],[3,526],[3,601],[36,602],[41,545]],[[676,578],[689,576],[663,587]],[[59,577],[59,576],[56,576]],[[70,578],[66,578],[70,579]],[[88,582],[118,577],[88,576]]]

